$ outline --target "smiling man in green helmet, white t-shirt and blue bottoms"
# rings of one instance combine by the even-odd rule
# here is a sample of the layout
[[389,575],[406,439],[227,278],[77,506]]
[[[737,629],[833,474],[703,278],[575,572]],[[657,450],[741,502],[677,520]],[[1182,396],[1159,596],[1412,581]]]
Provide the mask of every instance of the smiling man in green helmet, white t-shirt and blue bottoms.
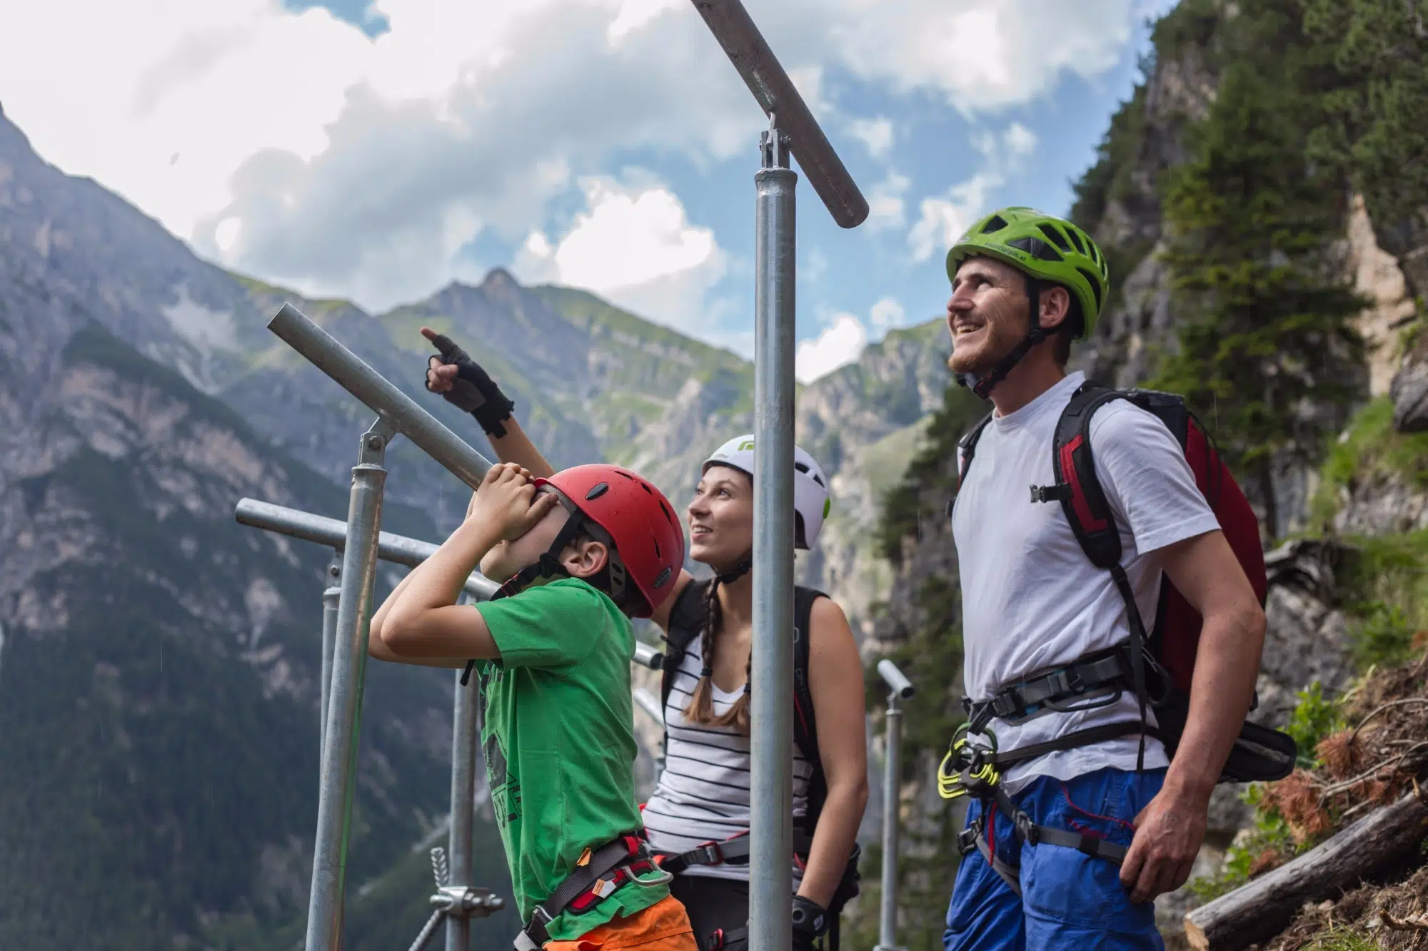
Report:
[[[1055,483],[1054,430],[1084,383],[1065,371],[1071,340],[1094,328],[1110,276],[1085,231],[1020,207],[972,224],[947,271],[948,366],[994,406],[952,510],[965,691],[982,704],[1131,635],[1111,571],[1088,560],[1061,505],[1028,500],[1028,485]],[[981,855],[968,851],[958,870],[948,951],[1162,948],[1154,900],[1190,877],[1210,794],[1250,710],[1264,613],[1178,441],[1124,400],[1095,413],[1090,440],[1140,615],[1155,617],[1164,573],[1204,617],[1188,718],[1172,761],[1137,725],[1005,768],[1000,788],[1030,822],[1068,832],[1060,838],[1071,844],[1080,837],[1127,851],[1117,864],[1107,852],[1118,858],[1120,850],[1024,841],[1002,810],[994,805],[987,822],[974,800],[968,830]],[[1141,718],[1132,691],[1101,700],[1072,713],[1018,711],[987,728],[1005,753]],[[1155,723],[1150,708],[1145,723]]]

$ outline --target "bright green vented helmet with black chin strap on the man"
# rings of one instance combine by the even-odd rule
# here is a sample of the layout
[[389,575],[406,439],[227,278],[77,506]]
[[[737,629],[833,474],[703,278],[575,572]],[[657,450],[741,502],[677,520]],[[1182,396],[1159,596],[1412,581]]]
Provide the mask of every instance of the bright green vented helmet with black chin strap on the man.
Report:
[[1105,256],[1091,236],[1071,224],[1035,208],[1012,206],[992,211],[975,221],[947,251],[947,278],[957,278],[957,268],[970,257],[987,256],[1005,261],[1031,278],[1031,333],[984,378],[957,374],[957,381],[987,398],[1028,350],[1050,334],[1040,326],[1040,287],[1061,284],[1081,304],[1081,327],[1077,337],[1090,336],[1101,316],[1101,307],[1111,287]]

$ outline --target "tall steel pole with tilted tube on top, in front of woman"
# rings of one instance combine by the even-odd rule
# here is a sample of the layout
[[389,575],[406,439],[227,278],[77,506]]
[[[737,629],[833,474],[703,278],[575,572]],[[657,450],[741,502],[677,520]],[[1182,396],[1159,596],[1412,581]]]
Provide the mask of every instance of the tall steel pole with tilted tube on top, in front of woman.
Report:
[[750,948],[793,940],[794,187],[790,150],[841,227],[868,203],[740,0],[693,0],[768,116],[755,176],[754,645]]

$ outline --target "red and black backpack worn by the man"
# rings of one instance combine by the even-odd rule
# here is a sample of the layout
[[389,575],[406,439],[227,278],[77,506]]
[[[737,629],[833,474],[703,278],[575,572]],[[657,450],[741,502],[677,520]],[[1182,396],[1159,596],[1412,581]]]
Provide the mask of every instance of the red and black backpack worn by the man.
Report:
[[[1152,687],[1137,673],[1134,678],[1140,683],[1134,688],[1142,710],[1145,703],[1155,710],[1158,728],[1150,733],[1160,737],[1167,754],[1174,755],[1190,711],[1190,688],[1202,618],[1168,577],[1161,581],[1155,623],[1150,631],[1140,617],[1134,593],[1121,568],[1121,535],[1115,515],[1105,500],[1091,456],[1091,418],[1098,408],[1112,400],[1127,400],[1152,414],[1180,443],[1185,461],[1195,476],[1195,485],[1215,513],[1225,541],[1235,553],[1262,607],[1268,585],[1264,548],[1259,543],[1259,521],[1214,441],[1182,397],[1157,390],[1114,390],[1085,383],[1077,388],[1062,410],[1052,444],[1055,484],[1032,485],[1031,501],[1060,501],[1071,531],[1075,533],[1087,557],[1112,574],[1125,601],[1131,627],[1131,663],[1140,667],[1144,661],[1150,668],[1151,681],[1160,681],[1152,694]],[[961,456],[958,487],[967,477],[977,441],[990,420],[991,414],[958,443]],[[1137,641],[1144,650],[1137,650]],[[1295,744],[1288,734],[1247,721],[1220,778],[1222,783],[1284,778],[1294,770],[1295,755]]]

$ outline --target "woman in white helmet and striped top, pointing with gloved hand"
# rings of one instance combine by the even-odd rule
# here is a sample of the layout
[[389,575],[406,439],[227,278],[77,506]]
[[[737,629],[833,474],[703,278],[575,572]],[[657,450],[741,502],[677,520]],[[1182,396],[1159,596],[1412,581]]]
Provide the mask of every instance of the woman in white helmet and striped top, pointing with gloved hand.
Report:
[[[423,333],[441,350],[428,361],[427,388],[476,416],[503,463],[548,474],[486,371],[446,337]],[[675,872],[670,891],[704,951],[738,951],[747,941],[754,451],[745,434],[704,460],[687,510],[690,557],[714,577],[681,571],[651,617],[668,647],[667,750],[644,824],[664,868]],[[813,548],[828,510],[827,477],[795,447],[797,548]],[[831,930],[831,951],[837,911],[857,894],[855,840],[868,795],[863,663],[835,601],[800,587],[794,604],[793,948],[813,948]]]

